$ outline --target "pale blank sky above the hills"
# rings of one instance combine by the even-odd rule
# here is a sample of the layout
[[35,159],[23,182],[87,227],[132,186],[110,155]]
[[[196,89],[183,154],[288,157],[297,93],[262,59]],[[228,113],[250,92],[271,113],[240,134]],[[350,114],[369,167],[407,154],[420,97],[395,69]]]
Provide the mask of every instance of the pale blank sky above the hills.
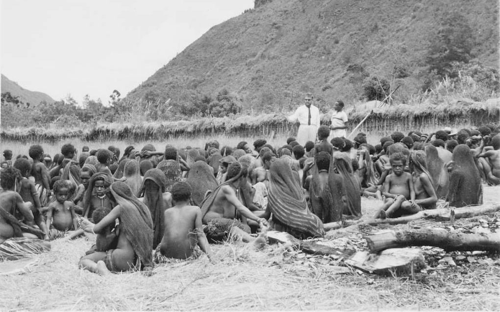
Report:
[[122,97],[253,0],[1,0],[1,73],[55,100]]

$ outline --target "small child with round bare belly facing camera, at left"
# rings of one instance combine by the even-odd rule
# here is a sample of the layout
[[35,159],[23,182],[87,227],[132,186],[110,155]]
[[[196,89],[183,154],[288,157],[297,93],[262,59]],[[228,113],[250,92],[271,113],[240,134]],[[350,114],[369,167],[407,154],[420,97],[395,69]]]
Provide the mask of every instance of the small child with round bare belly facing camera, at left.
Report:
[[[55,201],[50,203],[47,209],[47,229],[50,230],[52,226],[55,230],[66,232],[78,228],[74,214],[74,203],[67,200],[70,197],[70,187],[71,184],[68,180],[55,181],[53,186]],[[51,239],[57,235],[58,233],[50,231]]]

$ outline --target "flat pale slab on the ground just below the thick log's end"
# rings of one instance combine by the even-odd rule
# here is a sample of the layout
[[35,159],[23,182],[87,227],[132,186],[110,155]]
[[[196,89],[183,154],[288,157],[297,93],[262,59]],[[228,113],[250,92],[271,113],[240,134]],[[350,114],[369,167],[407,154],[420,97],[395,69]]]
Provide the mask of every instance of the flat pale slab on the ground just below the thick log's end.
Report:
[[344,264],[354,268],[384,276],[411,275],[425,267],[425,259],[420,249],[394,248],[382,251],[379,255],[359,251]]

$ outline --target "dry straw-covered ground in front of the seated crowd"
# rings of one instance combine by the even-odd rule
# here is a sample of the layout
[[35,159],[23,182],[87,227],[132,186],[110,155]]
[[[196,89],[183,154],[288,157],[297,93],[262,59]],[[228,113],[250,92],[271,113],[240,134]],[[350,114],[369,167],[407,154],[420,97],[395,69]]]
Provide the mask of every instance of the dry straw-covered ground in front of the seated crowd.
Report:
[[[497,201],[498,191],[485,187],[485,203]],[[362,204],[370,216],[380,202],[363,199]],[[328,234],[344,240],[359,236]],[[489,265],[457,263],[410,277],[379,277],[354,269],[335,275],[333,260],[288,252],[283,246],[254,251],[226,243],[213,246],[215,264],[201,258],[156,266],[152,277],[101,277],[77,268],[91,244],[84,238],[54,241],[52,250],[38,256],[25,273],[0,276],[0,310],[500,309],[496,255],[487,255],[494,261]]]

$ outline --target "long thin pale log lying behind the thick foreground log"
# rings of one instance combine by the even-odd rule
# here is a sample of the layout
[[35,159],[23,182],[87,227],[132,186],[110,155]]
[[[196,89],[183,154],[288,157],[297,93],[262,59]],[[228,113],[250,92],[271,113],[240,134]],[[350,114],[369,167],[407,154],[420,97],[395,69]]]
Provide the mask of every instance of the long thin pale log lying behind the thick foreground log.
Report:
[[450,221],[461,218],[471,218],[481,216],[486,213],[493,213],[500,211],[500,203],[493,205],[469,206],[460,208],[439,208],[429,209],[417,212],[414,215],[403,216],[399,218],[387,219],[371,219],[361,221],[360,224],[377,225],[377,224],[404,224],[410,221],[419,219],[436,219],[439,221]]

